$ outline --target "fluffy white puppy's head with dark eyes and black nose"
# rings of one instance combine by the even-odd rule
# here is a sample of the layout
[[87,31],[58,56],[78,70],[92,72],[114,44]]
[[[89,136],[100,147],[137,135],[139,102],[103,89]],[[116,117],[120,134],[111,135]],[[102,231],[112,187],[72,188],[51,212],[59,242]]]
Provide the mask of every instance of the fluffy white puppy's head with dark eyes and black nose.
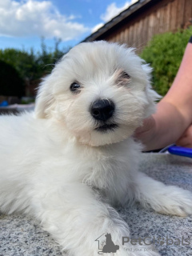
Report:
[[108,42],[75,46],[38,90],[37,118],[57,119],[79,142],[102,146],[134,133],[154,112],[150,67],[134,50]]

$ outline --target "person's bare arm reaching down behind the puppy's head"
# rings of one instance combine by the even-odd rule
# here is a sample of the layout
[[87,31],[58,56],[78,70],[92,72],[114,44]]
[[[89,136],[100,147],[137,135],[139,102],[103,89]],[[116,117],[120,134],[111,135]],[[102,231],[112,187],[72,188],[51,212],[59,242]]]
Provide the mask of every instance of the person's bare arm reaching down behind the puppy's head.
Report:
[[155,114],[143,122],[135,137],[145,150],[159,149],[176,142],[192,123],[192,43],[188,43],[174,83]]

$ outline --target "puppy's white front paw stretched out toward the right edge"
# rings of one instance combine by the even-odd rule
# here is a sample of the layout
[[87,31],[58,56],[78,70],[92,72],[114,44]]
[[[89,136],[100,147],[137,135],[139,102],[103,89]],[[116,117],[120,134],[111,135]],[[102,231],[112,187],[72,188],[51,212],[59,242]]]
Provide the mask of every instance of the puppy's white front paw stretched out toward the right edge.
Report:
[[192,193],[177,186],[166,186],[145,174],[138,173],[135,198],[142,206],[161,214],[192,214]]

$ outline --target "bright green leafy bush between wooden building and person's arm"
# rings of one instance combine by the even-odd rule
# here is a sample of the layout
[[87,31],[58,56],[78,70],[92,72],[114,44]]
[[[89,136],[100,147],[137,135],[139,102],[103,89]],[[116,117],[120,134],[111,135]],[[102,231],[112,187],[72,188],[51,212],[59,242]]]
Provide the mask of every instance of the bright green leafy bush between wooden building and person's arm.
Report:
[[140,56],[153,67],[153,87],[164,96],[169,90],[182,62],[192,27],[176,33],[155,35]]

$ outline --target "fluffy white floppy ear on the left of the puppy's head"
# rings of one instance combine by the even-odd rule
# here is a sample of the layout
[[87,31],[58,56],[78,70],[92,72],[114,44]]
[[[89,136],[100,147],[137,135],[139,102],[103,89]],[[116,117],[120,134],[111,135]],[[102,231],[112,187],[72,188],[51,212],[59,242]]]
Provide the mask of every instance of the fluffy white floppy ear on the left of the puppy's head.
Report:
[[38,96],[35,101],[34,114],[36,118],[47,118],[50,108],[53,106],[54,96],[52,94],[49,76],[44,78],[38,88]]

